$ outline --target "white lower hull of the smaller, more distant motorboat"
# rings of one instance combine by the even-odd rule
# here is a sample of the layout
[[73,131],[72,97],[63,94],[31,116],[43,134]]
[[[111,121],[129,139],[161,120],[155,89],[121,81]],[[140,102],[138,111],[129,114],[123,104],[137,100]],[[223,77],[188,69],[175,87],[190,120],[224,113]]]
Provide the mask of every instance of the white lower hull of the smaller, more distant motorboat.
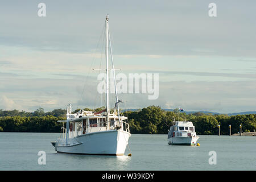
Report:
[[171,137],[168,138],[169,144],[180,144],[193,146],[196,144],[199,137]]

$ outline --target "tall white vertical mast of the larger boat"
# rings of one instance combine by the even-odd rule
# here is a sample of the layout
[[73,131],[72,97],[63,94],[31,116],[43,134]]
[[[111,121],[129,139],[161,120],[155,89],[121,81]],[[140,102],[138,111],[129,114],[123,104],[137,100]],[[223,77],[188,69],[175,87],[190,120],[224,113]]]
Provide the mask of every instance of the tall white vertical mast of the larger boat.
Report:
[[109,122],[109,14],[106,15],[106,122]]

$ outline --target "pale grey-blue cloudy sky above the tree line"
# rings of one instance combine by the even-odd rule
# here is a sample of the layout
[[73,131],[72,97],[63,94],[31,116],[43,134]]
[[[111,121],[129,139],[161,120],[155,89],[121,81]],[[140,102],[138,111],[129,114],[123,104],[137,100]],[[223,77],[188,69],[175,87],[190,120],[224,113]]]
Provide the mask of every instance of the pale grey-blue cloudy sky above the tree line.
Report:
[[[38,16],[40,2],[46,17]],[[212,2],[217,17],[208,15]],[[254,111],[255,7],[255,1],[1,1],[0,109],[104,104],[92,68],[105,64],[109,13],[117,73],[159,73],[159,98],[119,94],[123,109]]]

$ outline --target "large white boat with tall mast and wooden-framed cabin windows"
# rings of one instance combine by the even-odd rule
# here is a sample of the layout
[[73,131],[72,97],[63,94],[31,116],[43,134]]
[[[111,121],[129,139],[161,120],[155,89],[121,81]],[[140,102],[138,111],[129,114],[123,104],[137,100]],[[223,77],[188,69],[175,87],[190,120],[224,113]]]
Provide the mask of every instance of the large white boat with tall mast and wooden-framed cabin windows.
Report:
[[[119,113],[117,89],[115,87],[114,112],[109,109],[109,51],[112,57],[112,69],[115,84],[112,48],[109,36],[109,16],[106,16],[106,109],[98,113],[80,110],[72,114],[72,108],[67,107],[67,120],[58,121],[66,123],[63,127],[63,137],[51,142],[57,152],[72,154],[93,155],[123,155],[131,136],[129,124],[125,116]],[[65,132],[64,132],[65,130]]]

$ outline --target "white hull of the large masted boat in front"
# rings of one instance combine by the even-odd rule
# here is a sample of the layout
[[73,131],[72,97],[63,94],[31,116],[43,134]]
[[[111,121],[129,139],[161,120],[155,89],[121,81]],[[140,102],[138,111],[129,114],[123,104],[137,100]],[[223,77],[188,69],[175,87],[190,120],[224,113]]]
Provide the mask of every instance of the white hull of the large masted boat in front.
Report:
[[67,146],[65,139],[60,139],[55,150],[72,154],[123,155],[130,136],[123,130],[98,131],[71,138]]

